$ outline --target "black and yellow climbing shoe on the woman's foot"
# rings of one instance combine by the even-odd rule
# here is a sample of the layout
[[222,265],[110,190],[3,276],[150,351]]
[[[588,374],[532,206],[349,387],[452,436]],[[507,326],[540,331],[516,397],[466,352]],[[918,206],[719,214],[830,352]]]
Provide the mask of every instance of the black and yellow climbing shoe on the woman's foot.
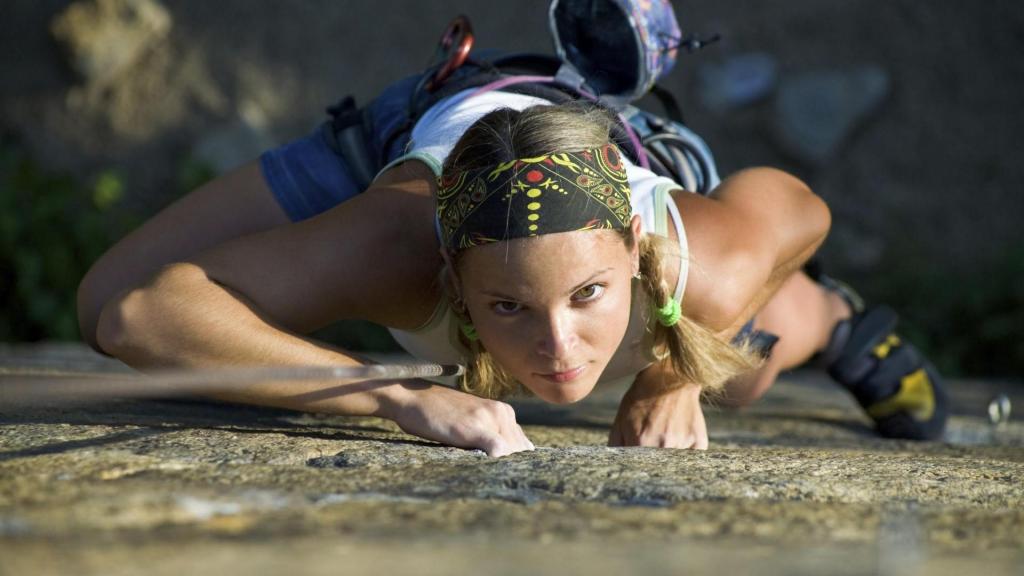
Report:
[[918,348],[896,334],[896,313],[886,305],[865,310],[845,284],[817,280],[838,292],[853,316],[836,325],[814,363],[853,394],[881,436],[940,439],[949,404],[944,383]]

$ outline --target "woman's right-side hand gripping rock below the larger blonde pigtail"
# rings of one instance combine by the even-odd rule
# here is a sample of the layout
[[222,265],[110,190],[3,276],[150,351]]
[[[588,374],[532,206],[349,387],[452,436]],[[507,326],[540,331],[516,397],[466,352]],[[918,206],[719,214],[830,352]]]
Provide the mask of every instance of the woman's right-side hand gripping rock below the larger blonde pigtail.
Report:
[[660,380],[659,373],[637,376],[618,404],[608,446],[708,449],[700,386],[688,384],[666,392]]

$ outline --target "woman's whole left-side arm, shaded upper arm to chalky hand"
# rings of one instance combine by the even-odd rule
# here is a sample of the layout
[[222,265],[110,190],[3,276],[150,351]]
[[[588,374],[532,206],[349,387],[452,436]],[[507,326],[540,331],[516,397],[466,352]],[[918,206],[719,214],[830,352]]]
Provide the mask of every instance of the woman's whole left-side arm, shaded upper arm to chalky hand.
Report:
[[[429,315],[439,256],[429,180],[411,170],[309,220],[165,266],[102,307],[98,344],[142,369],[359,364],[299,334],[341,318],[413,327]],[[255,382],[217,398],[382,416],[490,455],[531,447],[508,405],[425,382]]]

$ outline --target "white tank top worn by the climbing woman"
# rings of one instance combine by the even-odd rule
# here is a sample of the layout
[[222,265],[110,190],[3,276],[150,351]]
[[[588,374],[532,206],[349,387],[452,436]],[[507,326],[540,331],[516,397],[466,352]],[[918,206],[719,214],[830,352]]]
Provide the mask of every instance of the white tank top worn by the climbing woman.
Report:
[[[452,152],[456,140],[474,122],[499,108],[523,110],[531,106],[551,102],[536,96],[490,91],[469,97],[474,89],[465,90],[434,105],[424,114],[413,128],[408,153],[389,163],[381,172],[408,160],[419,160],[439,175],[444,159]],[[626,160],[624,158],[624,160]],[[626,173],[632,190],[633,213],[640,215],[641,233],[668,236],[668,220],[671,218],[679,238],[680,268],[676,283],[675,298],[682,301],[686,288],[689,251],[686,234],[679,210],[672,199],[671,191],[681,190],[670,178],[658,176],[626,160]],[[651,332],[642,311],[648,306],[646,294],[634,281],[633,304],[630,323],[622,344],[601,374],[599,382],[633,378],[653,362]],[[465,364],[469,357],[459,341],[458,319],[447,301],[438,302],[430,320],[415,330],[390,329],[394,339],[414,357],[437,364]],[[452,384],[452,379],[436,381]]]

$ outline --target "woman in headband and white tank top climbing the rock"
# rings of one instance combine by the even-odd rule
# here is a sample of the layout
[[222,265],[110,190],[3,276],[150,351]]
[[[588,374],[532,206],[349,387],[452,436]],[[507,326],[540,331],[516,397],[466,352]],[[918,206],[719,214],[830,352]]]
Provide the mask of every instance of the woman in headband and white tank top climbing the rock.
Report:
[[[573,4],[555,2],[553,17],[583,17]],[[254,382],[217,398],[382,416],[495,456],[532,448],[501,401],[517,392],[569,403],[630,378],[609,444],[706,448],[702,393],[749,404],[812,360],[883,436],[941,434],[938,375],[893,333],[892,311],[802,272],[830,216],[799,179],[751,168],[719,182],[703,166],[712,190],[694,194],[644,167],[632,120],[604,97],[617,92],[581,84],[566,99],[499,80],[424,99],[435,79],[399,82],[359,113],[369,155],[386,162],[367,186],[336,114],[157,214],[83,279],[84,337],[140,369],[356,365],[304,334],[372,321],[419,359],[465,365],[459,388]]]

